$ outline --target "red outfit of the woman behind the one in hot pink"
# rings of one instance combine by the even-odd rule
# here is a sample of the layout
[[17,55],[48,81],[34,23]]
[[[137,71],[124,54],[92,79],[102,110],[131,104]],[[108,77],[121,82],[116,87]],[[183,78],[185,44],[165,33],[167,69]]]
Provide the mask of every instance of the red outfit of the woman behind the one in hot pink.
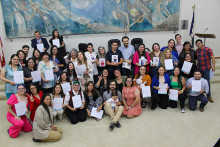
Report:
[[[43,95],[42,91],[39,91],[38,95],[41,99],[41,97]],[[28,96],[28,100],[30,101],[30,111],[31,111],[30,119],[32,122],[34,121],[35,111],[37,110],[38,106],[40,105],[40,99],[38,99],[34,95],[33,95],[33,98],[34,98],[34,102],[32,102],[30,100],[30,96]]]

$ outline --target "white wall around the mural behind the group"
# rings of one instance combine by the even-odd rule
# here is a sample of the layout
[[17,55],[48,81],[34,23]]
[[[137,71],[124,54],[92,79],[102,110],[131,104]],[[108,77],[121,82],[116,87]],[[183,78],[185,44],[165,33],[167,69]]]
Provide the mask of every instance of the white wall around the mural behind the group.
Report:
[[[220,50],[218,49],[218,42],[220,42],[218,36],[220,36],[220,31],[218,27],[220,26],[220,1],[219,0],[180,0],[180,20],[189,20],[188,30],[179,30],[177,32],[141,32],[141,33],[127,33],[130,39],[132,38],[143,38],[146,47],[151,48],[154,42],[160,43],[161,46],[166,46],[167,41],[171,38],[174,39],[175,33],[180,33],[182,35],[183,41],[191,41],[189,36],[189,29],[192,20],[192,6],[196,5],[196,15],[195,15],[195,32],[204,33],[205,29],[208,30],[205,33],[214,33],[216,39],[207,39],[206,45],[214,50],[216,57],[220,57]],[[110,39],[117,38],[121,39],[124,33],[106,33],[106,34],[89,34],[89,35],[69,35],[64,36],[64,41],[67,50],[72,48],[78,48],[79,43],[92,42],[94,48],[97,49],[99,45],[104,45],[107,47],[107,42]],[[18,49],[21,49],[22,45],[31,45],[32,38],[18,38],[18,39],[7,39],[4,30],[4,23],[2,17],[2,11],[0,10],[0,36],[2,37],[4,44],[4,54],[6,62],[8,63],[11,54],[16,53]],[[50,37],[47,37],[49,40]],[[197,38],[195,38],[197,39]],[[31,49],[30,52],[33,50]]]

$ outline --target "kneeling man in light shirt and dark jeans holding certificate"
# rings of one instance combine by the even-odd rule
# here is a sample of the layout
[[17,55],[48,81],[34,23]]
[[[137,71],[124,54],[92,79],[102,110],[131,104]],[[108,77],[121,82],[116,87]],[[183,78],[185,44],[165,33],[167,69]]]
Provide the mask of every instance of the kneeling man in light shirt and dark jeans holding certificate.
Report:
[[202,78],[200,71],[195,71],[194,77],[188,80],[186,87],[190,90],[189,109],[192,111],[196,110],[197,101],[201,101],[199,110],[203,112],[205,105],[208,103],[208,99],[204,95],[204,93],[209,93],[209,85],[207,80]]

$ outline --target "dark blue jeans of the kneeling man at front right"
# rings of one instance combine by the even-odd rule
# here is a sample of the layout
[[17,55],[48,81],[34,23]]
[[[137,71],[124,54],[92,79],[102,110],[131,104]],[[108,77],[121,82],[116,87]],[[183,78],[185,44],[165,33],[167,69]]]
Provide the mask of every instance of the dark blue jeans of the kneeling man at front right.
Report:
[[197,101],[201,101],[199,108],[204,108],[205,105],[208,103],[208,99],[204,94],[199,96],[189,96],[189,109],[196,110]]

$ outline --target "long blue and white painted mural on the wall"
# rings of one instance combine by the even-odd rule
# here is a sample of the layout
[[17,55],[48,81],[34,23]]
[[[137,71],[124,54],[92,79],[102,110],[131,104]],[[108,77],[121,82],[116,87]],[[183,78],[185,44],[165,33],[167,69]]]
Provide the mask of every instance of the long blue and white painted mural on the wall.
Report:
[[1,0],[8,38],[108,32],[174,31],[180,0]]

